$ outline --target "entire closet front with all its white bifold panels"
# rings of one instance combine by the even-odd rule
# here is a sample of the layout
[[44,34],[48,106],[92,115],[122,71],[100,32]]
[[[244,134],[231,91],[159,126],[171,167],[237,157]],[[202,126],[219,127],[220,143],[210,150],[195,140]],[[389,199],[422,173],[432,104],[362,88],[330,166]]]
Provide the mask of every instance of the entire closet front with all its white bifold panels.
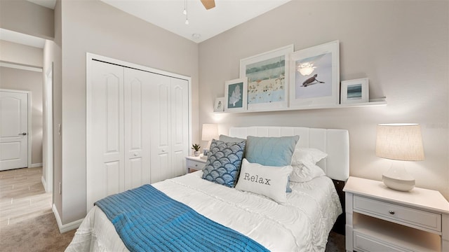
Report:
[[185,174],[189,155],[189,78],[98,58],[88,55],[87,64],[87,210]]

